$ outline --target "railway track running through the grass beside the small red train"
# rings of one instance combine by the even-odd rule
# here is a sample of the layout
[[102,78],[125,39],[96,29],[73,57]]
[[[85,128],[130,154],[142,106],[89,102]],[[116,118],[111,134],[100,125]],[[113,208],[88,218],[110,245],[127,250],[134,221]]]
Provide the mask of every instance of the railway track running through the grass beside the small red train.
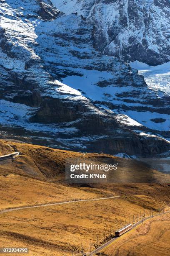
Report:
[[[142,222],[144,222],[144,221],[146,221],[146,220],[148,220],[148,219],[154,218],[154,217],[156,217],[156,216],[164,215],[164,214],[167,214],[167,213],[169,213],[169,212],[162,212],[162,213],[160,213],[160,214],[153,215],[153,217],[152,217],[152,216],[149,216],[149,217],[143,218],[143,220],[140,220],[140,221],[138,221],[137,223],[133,224],[133,225],[132,225],[132,228],[131,228],[130,230],[132,230],[133,228],[135,228],[136,226],[138,226],[140,223],[142,223]],[[126,233],[130,232],[130,230],[127,231]],[[122,235],[122,236],[123,236],[123,235]],[[114,237],[114,238],[112,238],[110,241],[104,243],[102,246],[100,246],[100,247],[98,247],[97,249],[95,249],[94,251],[92,251],[92,252],[90,252],[90,253],[84,253],[83,255],[84,255],[84,256],[93,256],[93,255],[95,255],[96,253],[99,253],[102,249],[104,249],[105,247],[107,247],[108,245],[110,245],[113,241],[117,240],[118,238],[119,238],[119,237]]]

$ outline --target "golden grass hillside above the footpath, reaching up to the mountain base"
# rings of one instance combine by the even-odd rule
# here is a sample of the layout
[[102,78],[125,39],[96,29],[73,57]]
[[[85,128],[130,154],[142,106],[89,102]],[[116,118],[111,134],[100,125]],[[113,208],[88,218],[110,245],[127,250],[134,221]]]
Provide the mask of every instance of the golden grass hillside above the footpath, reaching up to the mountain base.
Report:
[[[70,187],[65,183],[65,159],[83,156],[102,162],[115,157],[104,154],[81,154],[43,146],[0,140],[0,154],[20,151],[14,162],[0,164],[0,209],[50,202],[109,197],[110,195],[148,195],[167,200],[166,184],[91,184]],[[122,166],[126,159],[120,159]],[[131,161],[131,160],[130,160]],[[133,161],[133,165],[136,161]],[[143,170],[143,164],[136,165]],[[145,172],[153,172],[145,166]],[[157,174],[158,172],[155,172]],[[163,174],[164,176],[165,174]]]

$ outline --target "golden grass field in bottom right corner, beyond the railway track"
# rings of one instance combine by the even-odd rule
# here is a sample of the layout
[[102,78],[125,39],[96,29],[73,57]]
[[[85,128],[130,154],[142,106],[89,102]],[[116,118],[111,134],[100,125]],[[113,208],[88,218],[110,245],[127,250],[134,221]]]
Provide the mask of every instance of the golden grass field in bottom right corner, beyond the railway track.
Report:
[[103,256],[169,256],[170,213],[147,220],[101,251]]

